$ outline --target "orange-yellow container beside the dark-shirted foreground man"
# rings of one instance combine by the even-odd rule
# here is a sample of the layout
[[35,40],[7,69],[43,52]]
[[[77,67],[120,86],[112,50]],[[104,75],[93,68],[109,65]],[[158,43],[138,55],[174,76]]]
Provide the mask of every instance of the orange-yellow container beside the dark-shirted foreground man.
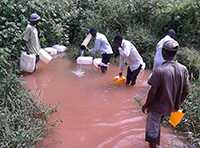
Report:
[[177,112],[172,112],[169,117],[169,123],[176,127],[183,119],[185,113],[182,110],[178,110]]

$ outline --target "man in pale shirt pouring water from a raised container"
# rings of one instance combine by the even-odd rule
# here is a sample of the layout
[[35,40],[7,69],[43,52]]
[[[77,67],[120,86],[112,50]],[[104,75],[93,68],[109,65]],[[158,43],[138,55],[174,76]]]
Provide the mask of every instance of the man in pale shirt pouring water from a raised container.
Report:
[[102,73],[105,73],[107,71],[110,58],[113,54],[112,47],[108,42],[106,36],[97,32],[96,29],[90,29],[89,33],[92,35],[92,37],[95,38],[95,45],[94,48],[92,48],[92,52],[99,52],[101,54],[102,61],[99,64],[99,66],[101,68]]

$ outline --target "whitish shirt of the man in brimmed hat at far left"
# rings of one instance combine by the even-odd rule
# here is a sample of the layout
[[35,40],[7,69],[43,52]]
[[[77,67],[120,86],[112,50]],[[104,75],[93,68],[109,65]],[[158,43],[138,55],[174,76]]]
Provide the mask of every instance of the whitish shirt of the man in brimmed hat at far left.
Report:
[[38,38],[38,31],[34,26],[30,24],[27,25],[23,39],[26,41],[26,46],[30,53],[38,54],[40,50],[40,43]]

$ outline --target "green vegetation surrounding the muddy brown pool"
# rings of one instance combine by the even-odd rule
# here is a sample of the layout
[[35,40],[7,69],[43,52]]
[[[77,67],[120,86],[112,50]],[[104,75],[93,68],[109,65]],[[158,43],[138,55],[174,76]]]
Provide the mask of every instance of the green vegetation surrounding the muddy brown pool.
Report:
[[96,27],[111,43],[117,33],[132,41],[148,68],[153,65],[156,43],[174,28],[182,46],[177,59],[188,67],[192,80],[179,130],[200,138],[199,0],[1,0],[0,8],[0,145],[31,147],[45,133],[45,122],[31,116],[41,108],[23,88],[17,69],[24,48],[22,33],[32,12],[42,17],[42,47],[70,44],[74,50],[69,56],[75,58],[85,32]]

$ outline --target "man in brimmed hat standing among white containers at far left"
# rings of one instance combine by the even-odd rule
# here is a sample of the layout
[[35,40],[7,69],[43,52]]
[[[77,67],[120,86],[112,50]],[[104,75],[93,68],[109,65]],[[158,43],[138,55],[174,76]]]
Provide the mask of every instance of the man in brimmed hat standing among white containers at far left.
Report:
[[37,24],[40,21],[40,16],[37,13],[31,14],[26,30],[24,32],[24,41],[26,43],[27,53],[36,56],[36,63],[39,61],[40,42],[38,38]]

